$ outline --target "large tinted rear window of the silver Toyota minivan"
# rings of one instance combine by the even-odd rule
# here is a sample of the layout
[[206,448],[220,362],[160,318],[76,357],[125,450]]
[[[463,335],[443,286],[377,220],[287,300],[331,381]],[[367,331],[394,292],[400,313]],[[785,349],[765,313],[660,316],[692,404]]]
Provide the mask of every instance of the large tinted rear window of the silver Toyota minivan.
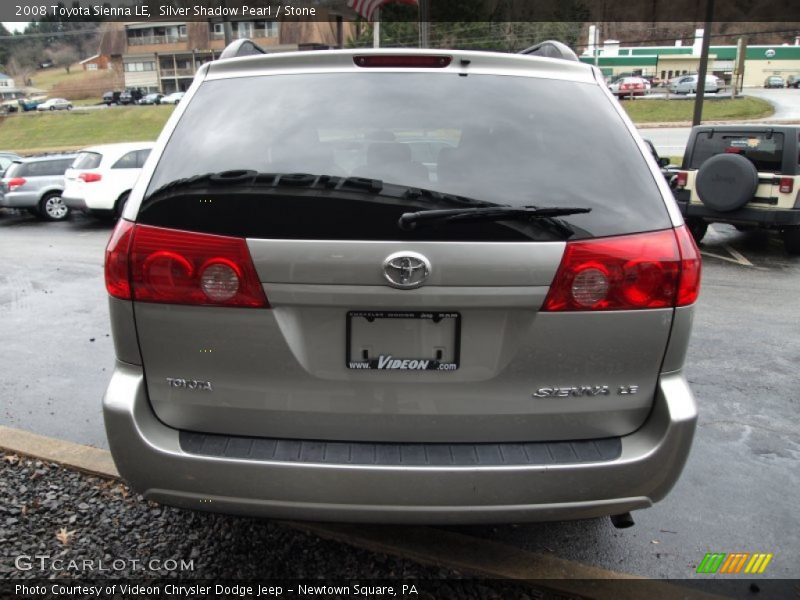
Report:
[[176,186],[170,201],[153,195],[177,180],[238,169],[377,179],[515,207],[591,208],[564,217],[576,237],[670,226],[645,159],[593,84],[374,72],[209,81],[172,134],[139,215],[247,237],[525,239],[523,228],[509,233],[511,225],[497,223],[399,230],[403,212],[453,208],[435,198],[425,205],[328,192],[301,200],[288,186],[249,195],[212,186],[205,202],[180,198]]

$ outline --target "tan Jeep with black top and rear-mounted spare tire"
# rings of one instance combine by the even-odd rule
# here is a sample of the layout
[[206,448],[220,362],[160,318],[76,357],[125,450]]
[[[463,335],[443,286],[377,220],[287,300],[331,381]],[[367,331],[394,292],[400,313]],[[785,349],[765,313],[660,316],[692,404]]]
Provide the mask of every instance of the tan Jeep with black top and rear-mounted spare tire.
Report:
[[709,223],[778,231],[800,254],[800,126],[694,127],[677,173],[675,199],[698,242]]

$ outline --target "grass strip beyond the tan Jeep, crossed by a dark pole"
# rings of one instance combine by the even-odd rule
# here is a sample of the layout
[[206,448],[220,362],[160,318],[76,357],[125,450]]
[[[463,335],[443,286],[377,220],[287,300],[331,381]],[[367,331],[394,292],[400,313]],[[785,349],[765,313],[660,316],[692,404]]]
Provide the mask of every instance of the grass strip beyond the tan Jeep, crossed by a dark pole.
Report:
[[[634,123],[691,121],[694,114],[693,100],[624,100],[622,106]],[[774,112],[772,104],[750,96],[706,99],[703,103],[704,121],[759,119]]]

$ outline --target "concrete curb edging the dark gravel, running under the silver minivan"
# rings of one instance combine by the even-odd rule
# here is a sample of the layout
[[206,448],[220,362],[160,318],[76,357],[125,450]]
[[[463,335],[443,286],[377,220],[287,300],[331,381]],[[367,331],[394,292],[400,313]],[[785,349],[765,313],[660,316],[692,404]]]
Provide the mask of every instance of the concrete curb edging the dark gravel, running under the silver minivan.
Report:
[[[0,425],[0,450],[22,454],[64,467],[120,479],[111,453],[74,442]],[[286,527],[372,552],[390,554],[423,564],[448,567],[498,580],[527,580],[537,588],[584,598],[634,600],[646,592],[651,600],[715,599],[720,596],[645,577],[528,552],[514,546],[455,533],[437,527],[354,525],[281,521]],[[398,535],[402,533],[402,535]],[[621,582],[638,582],[621,585]]]

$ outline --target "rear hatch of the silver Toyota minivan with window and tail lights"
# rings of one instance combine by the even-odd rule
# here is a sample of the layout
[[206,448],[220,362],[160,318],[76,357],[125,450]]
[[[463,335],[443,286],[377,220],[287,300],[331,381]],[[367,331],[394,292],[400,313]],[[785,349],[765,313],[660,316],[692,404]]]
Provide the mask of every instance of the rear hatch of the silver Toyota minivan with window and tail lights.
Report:
[[[212,66],[109,245],[164,423],[400,442],[643,423],[691,242],[591,70],[513,60]],[[429,210],[454,212],[409,218]]]

